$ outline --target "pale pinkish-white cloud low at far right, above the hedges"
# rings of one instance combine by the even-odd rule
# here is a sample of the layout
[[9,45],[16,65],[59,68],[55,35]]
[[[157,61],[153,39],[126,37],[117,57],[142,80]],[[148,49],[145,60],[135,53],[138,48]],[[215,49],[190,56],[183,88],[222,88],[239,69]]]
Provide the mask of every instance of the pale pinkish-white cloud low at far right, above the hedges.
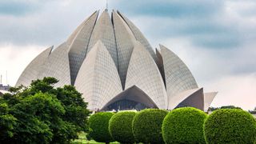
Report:
[[218,90],[211,106],[240,106],[244,110],[256,107],[256,73],[230,75],[208,83],[208,90]]

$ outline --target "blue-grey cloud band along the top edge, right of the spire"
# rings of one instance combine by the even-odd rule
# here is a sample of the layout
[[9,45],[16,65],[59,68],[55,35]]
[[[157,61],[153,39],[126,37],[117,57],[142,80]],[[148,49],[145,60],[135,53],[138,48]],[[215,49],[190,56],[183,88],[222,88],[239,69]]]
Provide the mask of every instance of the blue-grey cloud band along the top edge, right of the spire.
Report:
[[190,18],[205,17],[215,14],[223,6],[223,2],[218,1],[185,1],[185,0],[150,0],[147,2],[131,0],[118,1],[114,3],[118,9],[123,9],[127,14],[150,15],[158,17]]

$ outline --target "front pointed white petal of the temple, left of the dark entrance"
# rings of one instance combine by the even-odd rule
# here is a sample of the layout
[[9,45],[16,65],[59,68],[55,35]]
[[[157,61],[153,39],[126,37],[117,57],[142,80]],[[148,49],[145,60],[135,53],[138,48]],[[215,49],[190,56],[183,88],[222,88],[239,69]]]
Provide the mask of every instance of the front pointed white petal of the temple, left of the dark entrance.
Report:
[[87,54],[74,86],[84,95],[90,110],[102,109],[102,106],[122,92],[118,70],[101,41]]

